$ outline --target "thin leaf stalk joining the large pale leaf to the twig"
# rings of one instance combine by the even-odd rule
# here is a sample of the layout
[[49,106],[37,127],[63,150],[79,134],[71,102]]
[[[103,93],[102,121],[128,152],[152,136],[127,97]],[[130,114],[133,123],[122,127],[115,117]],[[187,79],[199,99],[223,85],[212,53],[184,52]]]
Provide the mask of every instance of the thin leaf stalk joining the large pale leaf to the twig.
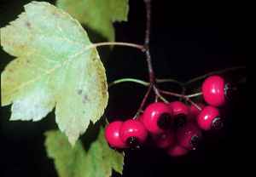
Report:
[[102,47],[102,46],[110,46],[110,45],[126,46],[126,47],[136,48],[136,49],[145,51],[145,48],[143,45],[139,45],[136,43],[120,43],[120,42],[93,43],[90,46],[88,46],[88,49]]

